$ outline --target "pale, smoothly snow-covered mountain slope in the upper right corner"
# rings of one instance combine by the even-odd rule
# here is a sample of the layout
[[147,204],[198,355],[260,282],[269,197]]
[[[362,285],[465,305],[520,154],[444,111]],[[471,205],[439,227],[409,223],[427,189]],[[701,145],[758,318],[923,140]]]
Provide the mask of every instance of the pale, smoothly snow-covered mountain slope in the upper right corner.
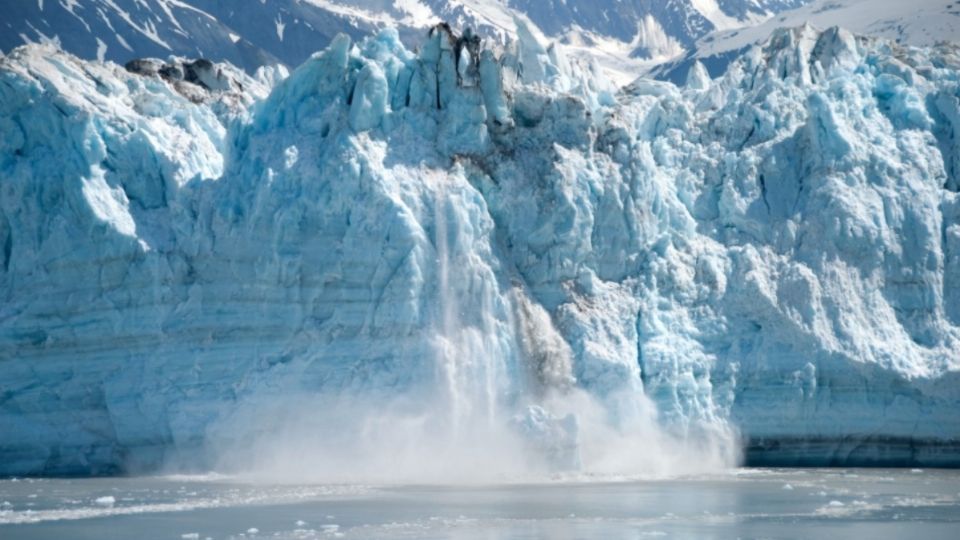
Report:
[[750,27],[718,29],[701,36],[679,58],[655,67],[651,75],[683,82],[694,62],[717,76],[747,48],[765,41],[777,28],[812,24],[840,26],[864,36],[903,45],[930,46],[960,40],[960,2],[956,0],[816,0]]

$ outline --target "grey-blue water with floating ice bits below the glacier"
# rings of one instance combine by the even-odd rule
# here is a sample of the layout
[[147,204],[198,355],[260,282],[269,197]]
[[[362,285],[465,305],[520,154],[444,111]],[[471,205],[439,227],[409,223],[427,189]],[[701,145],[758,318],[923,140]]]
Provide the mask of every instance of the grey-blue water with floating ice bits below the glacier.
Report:
[[0,539],[960,538],[960,471],[736,469],[473,486],[0,480]]

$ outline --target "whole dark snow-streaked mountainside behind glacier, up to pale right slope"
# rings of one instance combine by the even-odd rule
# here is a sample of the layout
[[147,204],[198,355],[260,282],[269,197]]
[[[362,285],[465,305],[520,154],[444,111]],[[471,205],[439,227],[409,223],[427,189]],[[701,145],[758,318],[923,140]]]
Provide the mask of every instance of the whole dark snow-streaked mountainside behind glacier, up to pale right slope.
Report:
[[417,44],[441,20],[502,40],[515,17],[624,82],[711,31],[756,24],[805,0],[4,0],[0,49],[55,41],[86,59],[124,63],[173,54],[227,61],[253,72],[297,66],[340,32],[387,25]]

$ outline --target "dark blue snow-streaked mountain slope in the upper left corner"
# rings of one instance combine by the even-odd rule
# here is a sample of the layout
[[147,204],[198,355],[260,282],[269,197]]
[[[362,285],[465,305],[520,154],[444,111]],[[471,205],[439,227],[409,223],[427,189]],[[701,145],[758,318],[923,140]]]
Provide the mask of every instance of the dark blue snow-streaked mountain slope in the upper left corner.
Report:
[[55,42],[86,59],[206,57],[250,72],[299,65],[339,32],[374,26],[299,0],[38,0],[3,2],[0,48]]

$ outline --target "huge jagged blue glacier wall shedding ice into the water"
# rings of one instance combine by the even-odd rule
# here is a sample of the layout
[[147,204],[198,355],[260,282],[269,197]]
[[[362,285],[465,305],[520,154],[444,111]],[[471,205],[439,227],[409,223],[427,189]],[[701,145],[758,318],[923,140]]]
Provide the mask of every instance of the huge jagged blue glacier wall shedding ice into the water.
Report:
[[618,89],[520,29],[0,57],[0,474],[960,462],[956,45]]

